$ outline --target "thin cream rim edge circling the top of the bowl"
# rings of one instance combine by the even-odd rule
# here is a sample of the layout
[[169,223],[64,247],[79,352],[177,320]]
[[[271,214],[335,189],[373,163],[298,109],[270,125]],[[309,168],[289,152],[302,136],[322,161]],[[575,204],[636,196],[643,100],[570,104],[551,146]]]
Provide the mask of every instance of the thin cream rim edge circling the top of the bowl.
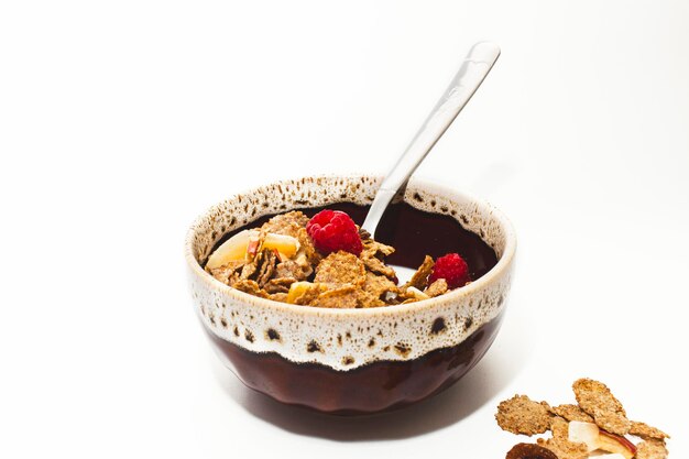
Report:
[[[353,178],[361,178],[361,177],[375,178],[375,179],[381,178],[380,176],[367,175],[367,174],[342,174],[342,175],[325,174],[325,175],[308,176],[304,178],[353,179]],[[261,298],[254,295],[250,295],[248,293],[238,291],[236,288],[230,287],[229,285],[221,283],[220,281],[216,280],[210,274],[208,274],[206,271],[204,271],[200,263],[194,256],[194,236],[196,234],[197,229],[200,227],[200,223],[205,219],[207,219],[209,215],[211,215],[214,211],[220,210],[225,203],[232,201],[233,199],[236,199],[238,195],[242,195],[242,196],[252,195],[265,186],[277,185],[277,184],[288,185],[299,179],[302,178],[299,177],[296,179],[278,181],[278,182],[270,183],[263,186],[254,187],[243,193],[236,193],[229,198],[211,206],[204,214],[197,217],[196,220],[194,220],[194,223],[192,225],[192,227],[187,231],[187,236],[186,236],[185,244],[184,244],[185,259],[192,272],[196,276],[198,276],[201,281],[204,281],[206,284],[208,284],[210,288],[217,289],[223,295],[234,298],[238,302],[250,303],[254,306],[264,307],[267,310],[287,310],[288,313],[296,313],[297,315],[305,315],[305,316],[318,316],[318,317],[330,316],[330,318],[351,319],[352,317],[371,317],[371,316],[393,317],[398,314],[408,313],[412,309],[415,312],[429,310],[429,309],[433,309],[434,306],[438,304],[440,300],[448,302],[451,299],[458,299],[464,296],[472,295],[474,292],[483,288],[486,284],[490,284],[496,278],[500,278],[503,271],[507,270],[514,260],[514,255],[516,253],[516,234],[514,231],[514,227],[512,226],[512,222],[507,219],[507,217],[500,209],[497,209],[492,204],[483,199],[479,199],[475,196],[467,192],[463,192],[463,190],[460,192],[460,190],[450,188],[448,186],[442,186],[436,183],[431,183],[427,179],[412,178],[409,181],[409,186],[413,186],[415,188],[422,188],[427,193],[435,193],[435,194],[448,196],[448,198],[453,197],[453,196],[460,196],[463,199],[467,199],[475,204],[477,206],[479,206],[481,210],[485,211],[488,215],[491,215],[495,219],[495,221],[500,223],[500,226],[502,227],[504,231],[505,248],[503,250],[502,255],[497,260],[497,263],[488,273],[483,274],[478,280],[471,282],[469,285],[463,286],[461,288],[453,289],[445,295],[441,295],[435,298],[423,299],[416,303],[408,303],[406,305],[392,305],[392,306],[382,306],[382,307],[374,307],[374,308],[327,308],[327,307],[320,307],[320,306],[293,305],[289,303],[282,303],[282,302],[276,302],[274,299]],[[308,206],[305,206],[302,208],[308,208]],[[287,209],[286,211],[289,211],[289,209]],[[256,219],[258,218],[259,217],[256,217]],[[250,223],[251,221],[247,225],[250,225]]]

